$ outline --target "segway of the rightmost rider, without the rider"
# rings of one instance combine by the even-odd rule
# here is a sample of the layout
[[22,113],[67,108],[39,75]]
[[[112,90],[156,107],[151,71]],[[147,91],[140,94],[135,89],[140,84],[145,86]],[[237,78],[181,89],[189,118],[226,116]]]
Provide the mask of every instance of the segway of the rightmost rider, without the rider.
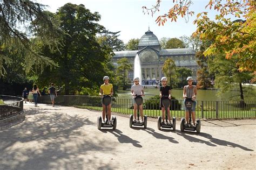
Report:
[[200,133],[200,130],[201,130],[200,120],[199,119],[197,120],[196,126],[192,125],[192,123],[191,123],[192,104],[193,104],[192,98],[185,99],[185,106],[189,111],[190,119],[189,119],[188,124],[186,124],[186,119],[184,117],[181,118],[181,123],[180,123],[180,131],[181,132],[184,132],[184,130],[187,130],[187,131],[197,131],[197,133]]

